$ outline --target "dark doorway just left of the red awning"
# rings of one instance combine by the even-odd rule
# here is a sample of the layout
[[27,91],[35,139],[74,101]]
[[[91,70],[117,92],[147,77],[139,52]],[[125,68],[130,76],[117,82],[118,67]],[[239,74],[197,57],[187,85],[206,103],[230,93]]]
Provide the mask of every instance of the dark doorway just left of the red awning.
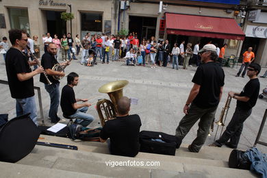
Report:
[[144,16],[129,16],[129,33],[135,33],[141,41],[155,36],[157,18]]

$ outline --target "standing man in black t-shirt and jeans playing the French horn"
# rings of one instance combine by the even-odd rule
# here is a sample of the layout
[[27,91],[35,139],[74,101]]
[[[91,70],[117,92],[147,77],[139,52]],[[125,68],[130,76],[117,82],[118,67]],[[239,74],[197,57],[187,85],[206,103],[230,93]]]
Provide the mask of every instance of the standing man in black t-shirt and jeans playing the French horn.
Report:
[[[51,118],[51,123],[58,123],[60,118],[58,117],[58,105],[60,105],[60,81],[53,78],[53,75],[59,75],[64,77],[65,73],[54,71],[52,68],[58,61],[55,59],[57,54],[57,45],[53,42],[49,43],[47,46],[47,53],[42,55],[41,64],[44,67],[44,71],[47,73],[51,85],[47,83],[44,74],[40,75],[40,81],[44,83],[44,88],[47,90],[50,96],[50,109],[49,118]],[[63,62],[60,65],[68,65],[69,62]]]

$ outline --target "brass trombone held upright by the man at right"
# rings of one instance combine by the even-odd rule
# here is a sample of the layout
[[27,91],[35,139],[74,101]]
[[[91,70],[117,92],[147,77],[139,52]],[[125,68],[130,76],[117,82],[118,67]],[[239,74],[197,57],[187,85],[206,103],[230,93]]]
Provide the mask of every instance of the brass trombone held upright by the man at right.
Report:
[[[230,108],[231,99],[232,99],[232,98],[228,95],[228,97],[227,97],[227,101],[226,101],[226,103],[225,103],[225,107],[223,107],[223,110],[222,110],[222,112],[220,113],[220,119],[219,119],[218,121],[215,121],[215,122],[214,122],[216,125],[218,125],[218,126],[217,126],[217,129],[216,129],[215,136],[214,136],[214,141],[216,140],[216,136],[217,136],[217,133],[218,133],[218,128],[219,128],[219,126],[223,126],[223,127],[225,127],[225,120],[226,120],[226,118],[227,118],[228,110],[229,110],[229,108]],[[214,123],[212,123],[212,125],[213,125]],[[222,136],[222,133],[223,133],[223,127],[222,127],[222,129],[220,130],[220,136]]]

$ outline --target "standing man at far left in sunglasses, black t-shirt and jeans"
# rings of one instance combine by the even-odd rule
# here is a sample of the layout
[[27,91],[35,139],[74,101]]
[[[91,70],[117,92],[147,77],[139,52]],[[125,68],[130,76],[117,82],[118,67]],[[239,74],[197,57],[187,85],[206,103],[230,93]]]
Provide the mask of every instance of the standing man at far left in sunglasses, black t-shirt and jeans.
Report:
[[[27,56],[22,53],[27,47],[27,32],[21,29],[8,31],[12,47],[5,56],[5,68],[8,75],[11,97],[16,99],[16,116],[30,113],[29,117],[37,123],[37,110],[34,98],[34,75],[43,73],[42,66],[31,71]],[[31,62],[36,65],[37,62]]]

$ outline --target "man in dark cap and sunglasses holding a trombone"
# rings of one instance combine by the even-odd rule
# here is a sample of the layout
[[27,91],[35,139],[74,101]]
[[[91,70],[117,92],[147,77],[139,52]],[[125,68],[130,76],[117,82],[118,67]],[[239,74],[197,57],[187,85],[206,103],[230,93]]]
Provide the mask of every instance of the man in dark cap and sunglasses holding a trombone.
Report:
[[[241,132],[243,129],[243,123],[251,115],[252,107],[255,106],[257,102],[257,97],[259,96],[259,79],[257,75],[261,71],[261,66],[256,63],[252,63],[247,68],[246,75],[249,76],[249,82],[246,83],[242,92],[229,92],[228,95],[236,99],[236,110],[233,113],[233,117],[230,123],[227,125],[226,130],[219,140],[216,140],[213,144],[209,146],[212,147],[222,147],[225,144],[227,147],[236,149],[238,147],[238,142],[240,140]],[[230,139],[230,142],[227,142]]]

